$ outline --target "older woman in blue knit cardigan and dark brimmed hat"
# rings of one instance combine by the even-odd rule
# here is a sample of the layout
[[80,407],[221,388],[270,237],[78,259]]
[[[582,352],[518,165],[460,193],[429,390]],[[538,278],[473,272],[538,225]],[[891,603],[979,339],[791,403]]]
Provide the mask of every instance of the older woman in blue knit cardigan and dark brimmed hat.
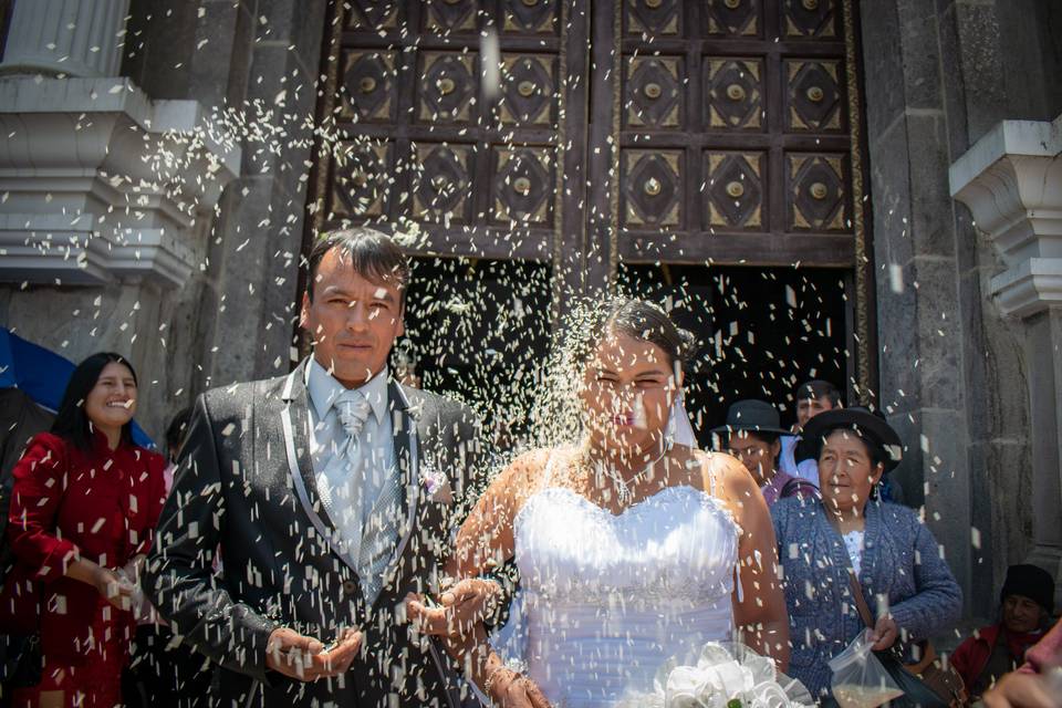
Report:
[[827,662],[866,629],[850,584],[878,614],[874,648],[917,642],[958,618],[962,594],[940,548],[909,509],[878,501],[875,486],[899,462],[900,441],[885,420],[860,409],[820,414],[803,430],[798,456],[819,460],[821,499],[772,508],[785,580],[790,675],[829,697]]

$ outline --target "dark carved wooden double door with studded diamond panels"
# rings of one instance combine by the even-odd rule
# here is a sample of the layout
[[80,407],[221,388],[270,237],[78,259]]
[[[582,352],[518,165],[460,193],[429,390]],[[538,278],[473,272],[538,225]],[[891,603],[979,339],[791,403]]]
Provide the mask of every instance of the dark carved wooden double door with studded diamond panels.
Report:
[[308,242],[414,222],[415,254],[548,263],[561,309],[621,262],[840,269],[873,387],[853,4],[335,2]]

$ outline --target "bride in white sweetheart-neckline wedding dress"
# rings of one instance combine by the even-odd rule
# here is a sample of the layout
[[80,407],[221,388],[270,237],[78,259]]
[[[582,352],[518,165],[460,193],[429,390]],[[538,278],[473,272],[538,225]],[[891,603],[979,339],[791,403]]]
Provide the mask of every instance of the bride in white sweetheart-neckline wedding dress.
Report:
[[574,360],[581,440],[517,458],[460,528],[451,577],[513,558],[520,572],[524,674],[482,625],[447,639],[496,705],[613,706],[652,690],[671,656],[736,631],[785,669],[767,504],[740,462],[674,442],[686,351],[656,306],[606,309]]

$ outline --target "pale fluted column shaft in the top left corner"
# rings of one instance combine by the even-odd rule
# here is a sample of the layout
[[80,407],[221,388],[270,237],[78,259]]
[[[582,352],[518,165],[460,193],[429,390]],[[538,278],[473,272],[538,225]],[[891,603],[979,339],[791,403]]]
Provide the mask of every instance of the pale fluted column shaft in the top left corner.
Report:
[[0,73],[117,76],[129,0],[15,0]]

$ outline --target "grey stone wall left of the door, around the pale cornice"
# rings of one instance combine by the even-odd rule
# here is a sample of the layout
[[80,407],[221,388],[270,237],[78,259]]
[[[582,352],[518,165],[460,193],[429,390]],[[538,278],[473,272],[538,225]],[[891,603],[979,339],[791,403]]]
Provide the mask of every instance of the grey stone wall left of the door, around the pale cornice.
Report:
[[[125,79],[112,83],[132,86],[133,103],[148,106],[140,111],[148,118],[155,117],[149,106],[194,100],[201,124],[222,133],[226,125],[250,125],[244,132],[250,137],[227,145],[241,155],[227,166],[238,177],[220,195],[197,197],[205,214],[185,222],[188,248],[177,249],[176,260],[160,261],[168,264],[159,269],[162,279],[112,272],[142,267],[138,258],[147,254],[142,249],[125,266],[106,259],[100,266],[90,251],[84,258],[98,266],[100,277],[80,284],[72,282],[84,274],[76,262],[58,284],[14,277],[0,283],[0,322],[27,339],[74,361],[101,350],[131,355],[147,382],[137,417],[156,439],[169,417],[205,388],[288,371],[312,145],[303,118],[313,115],[317,100],[325,6],[129,0],[119,42]],[[104,90],[104,97],[114,103],[122,96]],[[131,110],[138,115],[138,107]],[[76,114],[72,134],[75,123]],[[43,204],[46,195],[40,196]],[[164,208],[159,218],[178,216]],[[60,232],[60,226],[44,232]],[[61,257],[51,263],[62,264]],[[181,287],[165,282],[175,278],[185,278]]]

